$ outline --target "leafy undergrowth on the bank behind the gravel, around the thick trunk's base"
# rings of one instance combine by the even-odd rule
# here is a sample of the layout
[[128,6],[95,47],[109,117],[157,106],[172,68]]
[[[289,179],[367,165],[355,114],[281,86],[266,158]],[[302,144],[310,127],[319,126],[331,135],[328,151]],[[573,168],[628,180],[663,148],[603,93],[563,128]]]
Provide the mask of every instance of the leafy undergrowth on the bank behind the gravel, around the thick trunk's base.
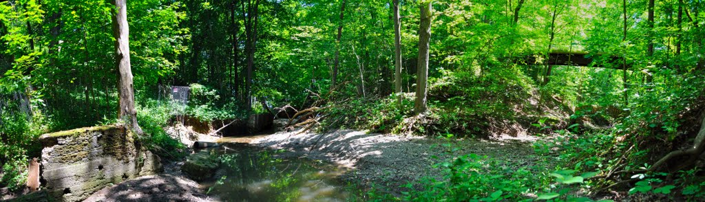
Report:
[[[372,132],[414,133],[433,136],[487,137],[488,128],[517,117],[537,115],[529,103],[534,84],[518,68],[491,68],[482,73],[441,71],[431,79],[428,112],[420,119],[413,112],[414,94],[381,99],[352,99],[331,104],[323,126]],[[519,108],[517,113],[515,108]]]

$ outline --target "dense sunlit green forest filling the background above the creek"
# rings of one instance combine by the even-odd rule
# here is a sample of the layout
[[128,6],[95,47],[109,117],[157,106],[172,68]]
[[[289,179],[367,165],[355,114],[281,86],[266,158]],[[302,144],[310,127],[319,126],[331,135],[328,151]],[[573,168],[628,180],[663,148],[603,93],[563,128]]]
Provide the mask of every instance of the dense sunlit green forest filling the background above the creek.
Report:
[[[307,130],[561,137],[537,153],[599,172],[591,193],[644,190],[632,178],[644,174],[685,198],[705,190],[680,175],[702,174],[705,1],[135,0],[126,11],[136,118],[160,155],[183,149],[162,130],[174,110],[213,121],[295,109]],[[39,135],[121,122],[116,12],[0,1],[0,165],[14,173],[1,185],[23,180]],[[172,87],[189,87],[188,107],[161,104]]]

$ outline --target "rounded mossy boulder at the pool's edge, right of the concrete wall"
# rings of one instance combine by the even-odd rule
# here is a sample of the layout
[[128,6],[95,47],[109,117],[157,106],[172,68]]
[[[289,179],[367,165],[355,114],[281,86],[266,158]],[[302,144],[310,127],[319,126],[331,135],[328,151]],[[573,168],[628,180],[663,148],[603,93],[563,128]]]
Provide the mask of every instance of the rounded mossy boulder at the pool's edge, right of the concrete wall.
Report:
[[220,160],[207,151],[200,151],[186,158],[186,162],[181,166],[181,171],[193,180],[203,181],[213,177],[219,167]]

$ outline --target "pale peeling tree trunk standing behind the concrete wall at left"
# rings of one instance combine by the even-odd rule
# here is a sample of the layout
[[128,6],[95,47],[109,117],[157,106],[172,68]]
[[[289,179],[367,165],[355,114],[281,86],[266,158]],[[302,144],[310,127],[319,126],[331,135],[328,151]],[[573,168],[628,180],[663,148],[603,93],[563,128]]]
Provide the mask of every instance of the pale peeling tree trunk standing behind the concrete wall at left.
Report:
[[113,36],[115,37],[115,58],[118,69],[118,118],[125,121],[129,130],[142,134],[140,125],[137,124],[137,111],[135,111],[135,91],[133,89],[133,75],[130,68],[130,46],[128,27],[128,13],[126,0],[112,2],[116,8],[113,15]]

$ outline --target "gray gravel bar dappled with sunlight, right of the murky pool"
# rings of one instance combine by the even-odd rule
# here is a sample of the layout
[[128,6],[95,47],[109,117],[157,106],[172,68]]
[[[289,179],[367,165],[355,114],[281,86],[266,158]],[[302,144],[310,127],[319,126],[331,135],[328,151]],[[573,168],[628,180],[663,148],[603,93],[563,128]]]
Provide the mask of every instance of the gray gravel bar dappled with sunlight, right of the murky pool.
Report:
[[[353,168],[343,175],[349,182],[376,184],[400,193],[398,187],[421,177],[440,179],[441,173],[431,165],[455,156],[475,153],[524,166],[541,162],[535,155],[529,137],[502,137],[496,140],[453,140],[424,137],[402,137],[390,134],[367,134],[353,130],[338,130],[324,134],[294,134],[279,132],[252,141],[271,149],[286,149],[292,157],[329,160]],[[443,146],[451,143],[452,146]],[[451,151],[458,148],[458,151]],[[438,157],[434,159],[433,156]]]

